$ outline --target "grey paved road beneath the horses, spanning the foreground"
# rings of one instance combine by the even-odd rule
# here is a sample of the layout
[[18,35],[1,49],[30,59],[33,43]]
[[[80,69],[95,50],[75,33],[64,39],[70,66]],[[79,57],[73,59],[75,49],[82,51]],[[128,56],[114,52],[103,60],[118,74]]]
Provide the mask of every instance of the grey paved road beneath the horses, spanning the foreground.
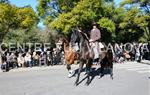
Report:
[[96,76],[89,86],[84,80],[76,87],[65,66],[15,69],[0,73],[0,95],[150,95],[149,77],[150,65],[127,62],[114,64],[113,80]]

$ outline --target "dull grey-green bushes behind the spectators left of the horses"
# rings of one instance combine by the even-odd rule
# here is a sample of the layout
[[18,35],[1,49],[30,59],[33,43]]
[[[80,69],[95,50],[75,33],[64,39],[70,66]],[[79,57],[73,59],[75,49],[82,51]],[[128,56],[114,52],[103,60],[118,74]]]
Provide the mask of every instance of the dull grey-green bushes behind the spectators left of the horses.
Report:
[[51,43],[54,47],[58,36],[56,31],[50,29],[16,29],[5,35],[3,43]]

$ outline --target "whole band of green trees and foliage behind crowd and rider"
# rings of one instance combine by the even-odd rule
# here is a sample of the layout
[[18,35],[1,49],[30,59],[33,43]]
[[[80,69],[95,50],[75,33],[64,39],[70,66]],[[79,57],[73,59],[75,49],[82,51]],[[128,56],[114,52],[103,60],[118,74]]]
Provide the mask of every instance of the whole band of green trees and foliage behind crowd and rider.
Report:
[[[89,31],[92,22],[99,24],[105,42],[150,41],[149,0],[123,0],[119,7],[114,0],[37,1],[39,17],[30,6],[16,7],[0,0],[0,42],[54,44],[60,32],[69,34],[76,27]],[[39,18],[48,29],[35,29]]]

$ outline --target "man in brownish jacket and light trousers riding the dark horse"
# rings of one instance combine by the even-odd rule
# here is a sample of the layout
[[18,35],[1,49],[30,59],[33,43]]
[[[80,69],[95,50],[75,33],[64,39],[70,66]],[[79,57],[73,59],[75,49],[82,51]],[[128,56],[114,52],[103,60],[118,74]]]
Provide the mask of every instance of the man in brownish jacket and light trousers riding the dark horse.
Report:
[[90,40],[89,42],[91,43],[91,46],[93,48],[94,51],[94,60],[98,61],[97,59],[99,59],[99,41],[101,38],[101,32],[100,30],[97,28],[97,24],[93,23],[93,29],[91,30],[90,33]]

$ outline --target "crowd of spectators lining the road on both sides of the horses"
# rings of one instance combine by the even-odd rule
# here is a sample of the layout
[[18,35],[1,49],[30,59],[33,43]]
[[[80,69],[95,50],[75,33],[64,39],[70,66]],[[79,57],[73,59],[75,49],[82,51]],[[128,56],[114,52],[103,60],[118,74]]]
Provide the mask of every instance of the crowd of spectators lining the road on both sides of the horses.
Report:
[[[150,60],[150,43],[132,43],[112,45],[113,60],[116,63],[125,61]],[[65,64],[62,47],[41,49],[40,51],[28,50],[26,52],[1,52],[0,65],[3,71],[14,68],[26,68],[34,66],[53,66]]]

